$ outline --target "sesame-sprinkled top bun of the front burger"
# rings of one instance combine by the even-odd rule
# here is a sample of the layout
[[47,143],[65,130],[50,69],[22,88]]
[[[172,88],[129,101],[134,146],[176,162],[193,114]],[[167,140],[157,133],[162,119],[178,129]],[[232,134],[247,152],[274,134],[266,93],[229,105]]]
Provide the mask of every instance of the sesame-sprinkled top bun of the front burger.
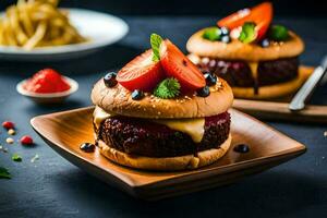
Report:
[[202,118],[222,113],[231,107],[233,94],[231,87],[222,78],[210,87],[210,95],[180,96],[174,99],[161,99],[148,93],[141,100],[133,100],[131,92],[120,84],[108,88],[104,80],[99,80],[90,94],[94,105],[109,113],[147,119]]

